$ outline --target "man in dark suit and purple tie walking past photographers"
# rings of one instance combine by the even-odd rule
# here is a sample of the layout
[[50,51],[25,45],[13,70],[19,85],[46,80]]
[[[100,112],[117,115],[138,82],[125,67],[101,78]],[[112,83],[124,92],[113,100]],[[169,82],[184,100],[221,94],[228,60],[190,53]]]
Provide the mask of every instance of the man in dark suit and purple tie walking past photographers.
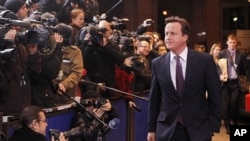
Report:
[[187,48],[190,27],[185,19],[165,22],[170,51],[152,62],[147,140],[211,141],[221,125],[216,65],[209,54]]

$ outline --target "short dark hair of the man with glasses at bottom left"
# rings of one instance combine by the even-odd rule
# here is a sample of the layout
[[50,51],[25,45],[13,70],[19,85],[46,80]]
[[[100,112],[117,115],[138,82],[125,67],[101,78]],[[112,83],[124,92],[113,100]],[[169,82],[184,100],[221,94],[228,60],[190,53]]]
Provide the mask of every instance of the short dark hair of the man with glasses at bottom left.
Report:
[[43,109],[38,107],[38,106],[27,106],[23,109],[23,111],[20,114],[20,122],[22,124],[22,126],[28,127],[30,123],[32,123],[32,121],[34,119],[40,119],[40,115],[39,113],[43,112]]

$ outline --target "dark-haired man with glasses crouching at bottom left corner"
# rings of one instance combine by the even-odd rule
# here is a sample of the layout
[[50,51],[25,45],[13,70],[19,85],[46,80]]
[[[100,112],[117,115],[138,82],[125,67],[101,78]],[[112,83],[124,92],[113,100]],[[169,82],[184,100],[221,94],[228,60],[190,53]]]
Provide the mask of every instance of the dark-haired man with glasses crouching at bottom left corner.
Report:
[[[40,107],[25,107],[19,120],[21,127],[14,132],[9,141],[47,141],[46,127],[48,123],[45,112]],[[62,133],[60,133],[59,141],[66,141]]]

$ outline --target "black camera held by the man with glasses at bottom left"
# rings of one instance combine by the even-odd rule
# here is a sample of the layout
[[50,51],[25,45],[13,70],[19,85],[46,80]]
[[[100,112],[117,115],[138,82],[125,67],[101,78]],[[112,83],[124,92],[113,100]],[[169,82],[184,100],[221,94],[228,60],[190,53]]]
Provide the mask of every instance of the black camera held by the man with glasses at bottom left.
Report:
[[[76,128],[73,128],[69,131],[65,131],[62,133],[63,133],[65,138],[69,138],[71,136],[79,135],[79,134],[81,134],[81,132],[82,132],[81,128],[76,127]],[[50,136],[55,138],[55,141],[59,141],[60,131],[58,129],[49,129],[49,134],[50,134]]]

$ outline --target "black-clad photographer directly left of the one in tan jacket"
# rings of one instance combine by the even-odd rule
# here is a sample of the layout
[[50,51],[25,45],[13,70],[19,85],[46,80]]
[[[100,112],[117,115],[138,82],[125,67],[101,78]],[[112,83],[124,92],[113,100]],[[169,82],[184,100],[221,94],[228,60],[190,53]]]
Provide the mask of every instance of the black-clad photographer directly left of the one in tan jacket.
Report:
[[32,104],[42,108],[51,108],[59,105],[51,86],[52,80],[57,77],[61,69],[63,38],[44,27],[34,30],[38,34],[34,40],[41,54],[41,72],[32,73],[30,76]]

